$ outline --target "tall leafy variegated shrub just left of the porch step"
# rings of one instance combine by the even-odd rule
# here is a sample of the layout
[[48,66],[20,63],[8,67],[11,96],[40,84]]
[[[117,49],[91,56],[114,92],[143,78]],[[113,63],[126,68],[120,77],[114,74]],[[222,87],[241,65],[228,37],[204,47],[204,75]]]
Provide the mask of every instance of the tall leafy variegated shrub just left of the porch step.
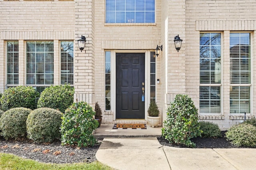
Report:
[[92,107],[86,102],[74,103],[66,109],[60,128],[62,145],[94,146],[96,139],[92,132],[98,127],[94,115]]

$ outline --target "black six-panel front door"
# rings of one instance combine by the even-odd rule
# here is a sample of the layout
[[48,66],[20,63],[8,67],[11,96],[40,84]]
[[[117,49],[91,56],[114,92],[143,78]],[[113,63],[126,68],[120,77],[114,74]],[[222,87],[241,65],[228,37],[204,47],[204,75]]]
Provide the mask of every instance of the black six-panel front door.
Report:
[[144,119],[145,53],[116,53],[116,119]]

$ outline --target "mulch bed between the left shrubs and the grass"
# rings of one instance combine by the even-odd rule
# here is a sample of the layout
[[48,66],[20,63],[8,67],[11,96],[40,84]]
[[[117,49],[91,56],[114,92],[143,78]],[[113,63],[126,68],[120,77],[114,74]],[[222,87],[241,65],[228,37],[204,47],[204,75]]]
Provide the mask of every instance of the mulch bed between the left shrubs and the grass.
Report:
[[6,141],[0,137],[0,152],[15,154],[22,158],[33,159],[44,163],[90,163],[96,160],[95,154],[99,147],[100,143],[94,147],[78,148],[62,146],[60,141],[37,144],[28,140]]

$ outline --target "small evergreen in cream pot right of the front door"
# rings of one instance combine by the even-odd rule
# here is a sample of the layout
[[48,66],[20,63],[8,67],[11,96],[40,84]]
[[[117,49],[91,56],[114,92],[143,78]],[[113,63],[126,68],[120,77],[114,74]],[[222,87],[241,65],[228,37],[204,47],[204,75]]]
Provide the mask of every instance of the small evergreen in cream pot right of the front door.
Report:
[[159,110],[155,100],[150,101],[148,107],[148,124],[150,127],[158,127],[160,122]]

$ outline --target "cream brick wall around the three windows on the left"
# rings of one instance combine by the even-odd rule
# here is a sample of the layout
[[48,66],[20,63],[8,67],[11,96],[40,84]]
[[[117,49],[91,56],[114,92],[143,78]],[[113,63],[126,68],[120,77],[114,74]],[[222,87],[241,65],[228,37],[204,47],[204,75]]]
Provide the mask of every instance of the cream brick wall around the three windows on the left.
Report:
[[26,84],[26,40],[54,40],[54,84],[59,84],[59,40],[74,39],[74,1],[0,0],[0,92],[6,88],[6,45],[19,41],[19,83]]

